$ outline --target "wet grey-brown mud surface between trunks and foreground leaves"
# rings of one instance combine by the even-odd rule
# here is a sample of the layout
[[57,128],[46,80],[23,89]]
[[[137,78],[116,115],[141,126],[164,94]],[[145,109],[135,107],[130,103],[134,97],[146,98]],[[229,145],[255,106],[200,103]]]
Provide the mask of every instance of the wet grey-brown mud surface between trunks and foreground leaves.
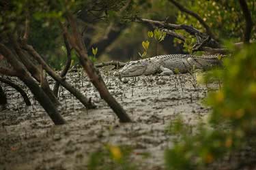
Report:
[[[61,88],[59,109],[68,122],[63,126],[54,126],[35,100],[26,107],[20,95],[3,84],[8,109],[0,112],[0,169],[87,169],[89,155],[108,144],[131,147],[132,161],[139,163],[139,169],[164,169],[165,148],[178,138],[167,132],[168,126],[183,116],[193,133],[193,126],[208,118],[210,108],[202,100],[209,89],[197,84],[195,75],[119,80],[113,72],[101,72],[132,123],[119,123],[83,71],[69,73],[67,80],[91,97],[97,108],[87,110]],[[145,153],[147,158],[142,156]]]

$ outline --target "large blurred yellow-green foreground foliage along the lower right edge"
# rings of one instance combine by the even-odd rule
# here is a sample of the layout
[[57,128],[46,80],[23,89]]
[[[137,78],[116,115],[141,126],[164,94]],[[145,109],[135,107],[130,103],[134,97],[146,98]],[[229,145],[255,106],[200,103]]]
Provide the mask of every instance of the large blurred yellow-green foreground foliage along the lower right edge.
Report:
[[205,81],[214,77],[222,82],[221,89],[210,93],[206,100],[213,109],[209,124],[199,125],[193,135],[181,122],[176,125],[181,139],[166,151],[168,169],[198,169],[253,139],[250,134],[256,126],[255,48],[251,45],[232,58],[225,58],[225,69],[210,71],[205,76]]

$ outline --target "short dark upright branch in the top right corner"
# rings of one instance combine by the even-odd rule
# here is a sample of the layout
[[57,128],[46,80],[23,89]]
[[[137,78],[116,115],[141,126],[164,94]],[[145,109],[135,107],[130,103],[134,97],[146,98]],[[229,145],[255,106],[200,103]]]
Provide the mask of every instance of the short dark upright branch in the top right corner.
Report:
[[239,0],[240,7],[242,8],[242,13],[246,21],[246,27],[244,31],[244,43],[250,43],[251,31],[253,29],[253,20],[251,18],[251,12],[248,10],[248,5],[245,0]]

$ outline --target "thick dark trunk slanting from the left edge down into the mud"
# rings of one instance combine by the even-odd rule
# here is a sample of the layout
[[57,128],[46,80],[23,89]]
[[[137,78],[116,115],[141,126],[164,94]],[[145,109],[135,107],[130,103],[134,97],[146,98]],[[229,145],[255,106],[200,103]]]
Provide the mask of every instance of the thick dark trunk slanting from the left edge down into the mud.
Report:
[[3,44],[0,44],[0,52],[15,69],[16,76],[31,90],[35,99],[42,105],[51,120],[53,120],[55,124],[65,124],[66,121],[61,117],[51,99],[44,93],[42,88],[38,86],[35,80],[33,80],[31,75],[29,75],[28,71],[25,69],[25,66],[18,61],[16,56],[14,56],[14,54],[12,54],[12,52]]

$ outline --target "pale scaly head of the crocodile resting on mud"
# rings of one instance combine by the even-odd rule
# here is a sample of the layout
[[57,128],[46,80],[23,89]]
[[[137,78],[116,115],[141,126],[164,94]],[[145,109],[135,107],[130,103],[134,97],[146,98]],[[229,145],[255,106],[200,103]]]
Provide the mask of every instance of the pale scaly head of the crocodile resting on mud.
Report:
[[143,75],[146,69],[147,69],[147,62],[130,61],[122,69],[119,70],[119,74],[122,77],[132,77],[137,75]]

